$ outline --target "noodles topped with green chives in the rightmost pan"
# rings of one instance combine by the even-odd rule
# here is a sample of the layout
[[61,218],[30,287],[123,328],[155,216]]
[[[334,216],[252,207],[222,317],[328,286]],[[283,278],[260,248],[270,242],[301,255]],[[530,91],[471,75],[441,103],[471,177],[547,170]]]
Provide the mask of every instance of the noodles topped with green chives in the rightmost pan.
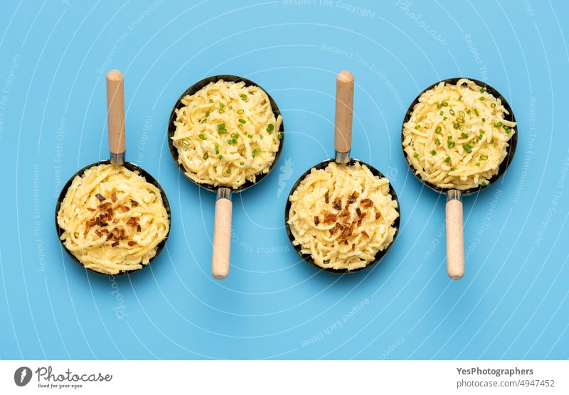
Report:
[[500,99],[474,82],[423,92],[403,125],[403,149],[420,177],[440,188],[486,186],[506,158],[515,122]]

